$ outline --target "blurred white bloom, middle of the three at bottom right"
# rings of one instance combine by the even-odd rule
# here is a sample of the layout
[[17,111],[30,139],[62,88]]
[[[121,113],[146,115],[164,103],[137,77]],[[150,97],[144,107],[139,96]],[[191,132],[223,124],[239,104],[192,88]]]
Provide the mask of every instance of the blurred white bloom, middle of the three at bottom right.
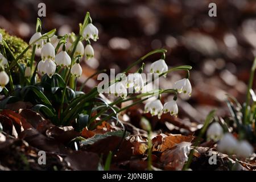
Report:
[[237,139],[230,133],[226,133],[218,143],[218,151],[233,154],[237,147]]

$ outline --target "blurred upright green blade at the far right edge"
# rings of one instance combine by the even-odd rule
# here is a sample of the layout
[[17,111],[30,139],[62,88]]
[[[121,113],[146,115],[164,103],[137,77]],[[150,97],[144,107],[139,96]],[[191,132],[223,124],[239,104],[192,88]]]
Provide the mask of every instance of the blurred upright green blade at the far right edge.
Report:
[[253,66],[251,67],[251,72],[250,72],[250,79],[249,79],[247,93],[246,93],[245,113],[243,114],[243,124],[247,122],[248,106],[251,99],[250,89],[253,87],[255,68],[256,68],[256,58],[254,59]]

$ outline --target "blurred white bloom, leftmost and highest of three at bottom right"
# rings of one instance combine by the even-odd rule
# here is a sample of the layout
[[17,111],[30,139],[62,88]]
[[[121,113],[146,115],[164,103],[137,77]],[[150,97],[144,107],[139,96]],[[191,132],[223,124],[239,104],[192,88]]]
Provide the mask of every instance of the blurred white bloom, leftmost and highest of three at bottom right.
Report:
[[212,123],[207,130],[207,138],[213,139],[215,141],[221,139],[223,136],[223,129],[218,122]]

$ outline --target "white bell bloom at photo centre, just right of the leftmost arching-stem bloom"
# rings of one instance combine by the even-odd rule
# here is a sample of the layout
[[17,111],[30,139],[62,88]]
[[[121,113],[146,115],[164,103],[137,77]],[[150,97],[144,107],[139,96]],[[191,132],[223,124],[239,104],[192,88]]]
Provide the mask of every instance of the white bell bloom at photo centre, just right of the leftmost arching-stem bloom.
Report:
[[141,73],[131,73],[122,82],[126,88],[134,88],[135,92],[141,91],[144,86]]

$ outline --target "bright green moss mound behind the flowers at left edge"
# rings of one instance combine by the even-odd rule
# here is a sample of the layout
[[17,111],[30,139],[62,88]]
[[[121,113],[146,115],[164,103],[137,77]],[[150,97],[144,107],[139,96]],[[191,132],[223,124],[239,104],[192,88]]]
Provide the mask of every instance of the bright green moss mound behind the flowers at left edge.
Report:
[[[3,35],[3,40],[7,43],[7,45],[10,47],[11,51],[13,52],[14,56],[17,57],[22,51],[28,46],[26,42],[24,42],[22,39],[12,36],[8,34],[5,30],[0,28],[0,33]],[[10,55],[7,55],[7,60],[9,59]],[[31,57],[31,49],[29,49],[24,56],[19,60],[19,63],[26,64],[27,58]],[[16,70],[16,69],[14,69]]]

